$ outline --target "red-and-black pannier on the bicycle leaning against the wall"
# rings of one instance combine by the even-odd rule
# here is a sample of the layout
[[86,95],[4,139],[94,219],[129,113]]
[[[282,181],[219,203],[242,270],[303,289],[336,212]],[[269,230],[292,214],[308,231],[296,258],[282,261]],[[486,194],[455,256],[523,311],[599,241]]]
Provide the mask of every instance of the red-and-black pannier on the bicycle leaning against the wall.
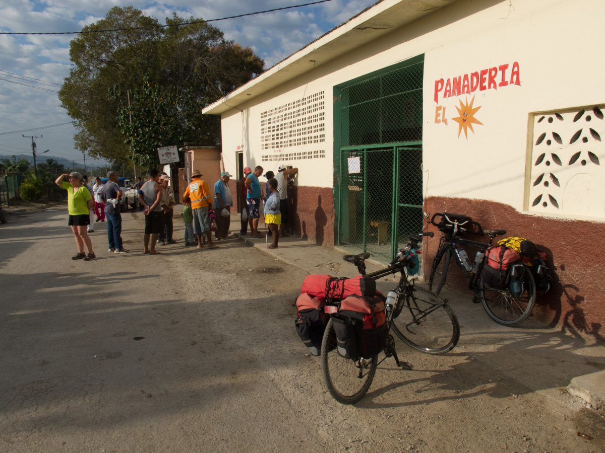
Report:
[[504,245],[494,245],[485,251],[485,265],[481,277],[483,283],[491,288],[504,289],[509,286],[513,294],[520,295],[523,288],[522,283],[521,288],[518,283],[522,282],[520,277],[525,272],[524,267],[517,251]]

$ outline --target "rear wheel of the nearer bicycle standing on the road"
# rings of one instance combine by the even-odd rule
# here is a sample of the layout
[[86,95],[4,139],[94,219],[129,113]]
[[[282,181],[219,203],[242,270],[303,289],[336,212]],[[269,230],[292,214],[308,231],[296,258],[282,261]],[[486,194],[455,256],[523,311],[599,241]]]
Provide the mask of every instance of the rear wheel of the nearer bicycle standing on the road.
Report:
[[330,394],[342,404],[358,402],[367,393],[378,366],[378,355],[370,359],[345,359],[336,351],[332,319],[321,342],[321,371]]

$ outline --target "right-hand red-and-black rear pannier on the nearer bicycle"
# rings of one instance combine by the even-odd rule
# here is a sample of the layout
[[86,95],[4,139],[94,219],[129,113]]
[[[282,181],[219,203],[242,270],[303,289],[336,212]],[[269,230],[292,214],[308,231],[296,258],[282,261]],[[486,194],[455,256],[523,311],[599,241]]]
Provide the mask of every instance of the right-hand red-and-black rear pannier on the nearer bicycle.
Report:
[[383,297],[352,295],[332,315],[336,351],[344,358],[370,358],[387,344],[387,318]]

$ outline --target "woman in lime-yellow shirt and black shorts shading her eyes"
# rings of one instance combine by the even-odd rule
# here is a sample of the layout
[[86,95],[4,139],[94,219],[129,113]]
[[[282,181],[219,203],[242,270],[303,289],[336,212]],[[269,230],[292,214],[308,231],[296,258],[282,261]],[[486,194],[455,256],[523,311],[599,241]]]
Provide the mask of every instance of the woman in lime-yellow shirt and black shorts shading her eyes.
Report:
[[[64,182],[65,178],[69,178],[70,182]],[[87,225],[90,225],[90,208],[93,207],[94,202],[88,188],[82,185],[82,175],[77,172],[60,175],[54,184],[67,190],[67,208],[70,215],[67,225],[71,226],[77,248],[77,254],[71,259],[94,260],[96,255],[93,250],[93,242],[87,233]],[[84,245],[88,249],[88,255],[84,253]]]

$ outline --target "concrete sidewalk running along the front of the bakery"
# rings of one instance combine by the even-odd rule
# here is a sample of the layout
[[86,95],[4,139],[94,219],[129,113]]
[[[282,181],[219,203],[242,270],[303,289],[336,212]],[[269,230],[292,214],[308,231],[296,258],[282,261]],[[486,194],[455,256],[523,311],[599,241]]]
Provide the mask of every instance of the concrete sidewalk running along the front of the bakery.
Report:
[[[237,214],[231,217],[231,231],[237,235],[240,217]],[[258,230],[263,238],[254,239],[247,234],[240,239],[273,260],[296,266],[308,274],[358,275],[355,266],[342,260],[347,253],[342,249],[292,236],[280,238],[279,248],[267,249],[271,238],[264,237],[262,219]],[[384,266],[373,260],[367,263],[368,272]],[[382,279],[378,288],[386,293],[397,279]],[[553,391],[568,391],[578,397],[577,402],[581,399],[584,405],[605,412],[605,344],[589,341],[571,329],[567,329],[571,333],[563,333],[558,327],[545,327],[533,317],[522,327],[500,326],[488,318],[481,304],[472,303],[470,291],[444,289],[442,296],[448,299],[460,323],[460,341],[453,353],[482,362],[494,373],[494,382],[499,374],[505,374],[545,396],[553,397]]]

